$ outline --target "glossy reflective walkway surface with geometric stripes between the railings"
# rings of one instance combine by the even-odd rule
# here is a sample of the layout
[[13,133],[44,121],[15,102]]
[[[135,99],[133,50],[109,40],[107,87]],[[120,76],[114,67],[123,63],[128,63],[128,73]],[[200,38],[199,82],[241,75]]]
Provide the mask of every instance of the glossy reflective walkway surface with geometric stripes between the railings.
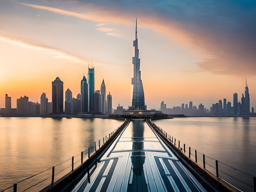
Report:
[[132,120],[74,192],[206,191],[143,120]]

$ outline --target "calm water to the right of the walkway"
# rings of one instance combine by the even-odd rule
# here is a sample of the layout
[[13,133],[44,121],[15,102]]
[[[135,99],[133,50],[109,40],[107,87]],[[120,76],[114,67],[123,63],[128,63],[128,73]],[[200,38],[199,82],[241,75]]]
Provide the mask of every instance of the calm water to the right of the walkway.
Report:
[[153,122],[173,139],[198,152],[256,175],[256,117],[173,118]]

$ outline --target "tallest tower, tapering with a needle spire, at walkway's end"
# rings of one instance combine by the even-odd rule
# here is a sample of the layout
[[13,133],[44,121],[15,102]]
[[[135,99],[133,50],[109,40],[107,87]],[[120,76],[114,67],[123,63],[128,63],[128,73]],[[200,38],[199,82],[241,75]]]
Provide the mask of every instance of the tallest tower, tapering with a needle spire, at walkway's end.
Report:
[[147,106],[145,105],[144,98],[144,89],[141,81],[141,71],[140,68],[140,59],[139,59],[139,49],[138,49],[138,39],[137,39],[137,18],[136,18],[136,27],[135,27],[135,40],[133,41],[133,46],[135,47],[135,54],[132,57],[133,65],[133,93],[132,93],[132,110],[146,110]]

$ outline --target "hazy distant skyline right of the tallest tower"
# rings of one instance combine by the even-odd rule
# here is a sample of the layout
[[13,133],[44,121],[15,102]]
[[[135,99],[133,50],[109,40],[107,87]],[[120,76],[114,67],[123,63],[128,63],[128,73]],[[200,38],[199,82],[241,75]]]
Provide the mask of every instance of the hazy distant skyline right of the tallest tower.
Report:
[[186,116],[249,116],[254,114],[254,108],[252,107],[252,113],[250,113],[250,97],[247,82],[245,85],[245,94],[242,94],[241,103],[238,102],[237,93],[233,94],[233,107],[231,102],[227,102],[226,98],[219,100],[218,103],[213,103],[210,107],[210,111],[204,108],[202,103],[197,106],[193,106],[193,102],[190,101],[189,105],[182,103],[181,107],[166,108],[164,101],[161,103],[160,111],[164,114],[184,114]]

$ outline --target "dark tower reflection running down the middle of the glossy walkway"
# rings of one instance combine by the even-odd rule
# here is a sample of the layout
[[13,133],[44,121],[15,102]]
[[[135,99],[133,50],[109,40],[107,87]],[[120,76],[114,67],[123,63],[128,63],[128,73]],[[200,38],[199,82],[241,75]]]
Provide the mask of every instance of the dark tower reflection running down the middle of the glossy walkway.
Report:
[[[132,183],[128,184],[127,191],[147,189],[143,164],[145,163],[144,150],[144,121],[132,121]],[[136,187],[135,189],[133,187]]]

